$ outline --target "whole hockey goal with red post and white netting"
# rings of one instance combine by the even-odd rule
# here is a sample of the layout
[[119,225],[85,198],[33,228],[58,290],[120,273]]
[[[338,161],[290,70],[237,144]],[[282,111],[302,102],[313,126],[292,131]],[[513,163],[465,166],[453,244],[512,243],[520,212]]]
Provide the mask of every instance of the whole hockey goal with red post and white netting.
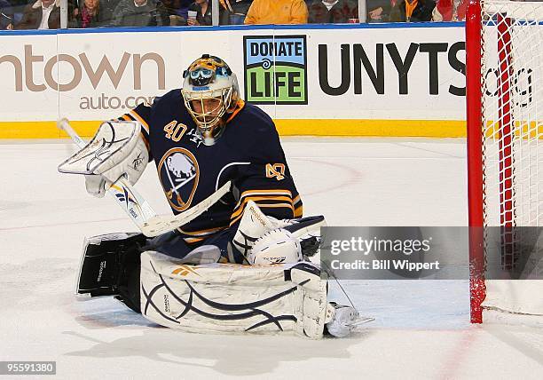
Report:
[[[486,227],[500,226],[501,265],[508,269],[515,227],[543,225],[543,3],[470,0],[466,43],[469,285],[471,321],[481,323],[491,296]],[[521,292],[543,287],[516,282],[528,286]],[[495,296],[491,307],[543,314],[539,301],[516,297],[518,290],[513,301]]]

